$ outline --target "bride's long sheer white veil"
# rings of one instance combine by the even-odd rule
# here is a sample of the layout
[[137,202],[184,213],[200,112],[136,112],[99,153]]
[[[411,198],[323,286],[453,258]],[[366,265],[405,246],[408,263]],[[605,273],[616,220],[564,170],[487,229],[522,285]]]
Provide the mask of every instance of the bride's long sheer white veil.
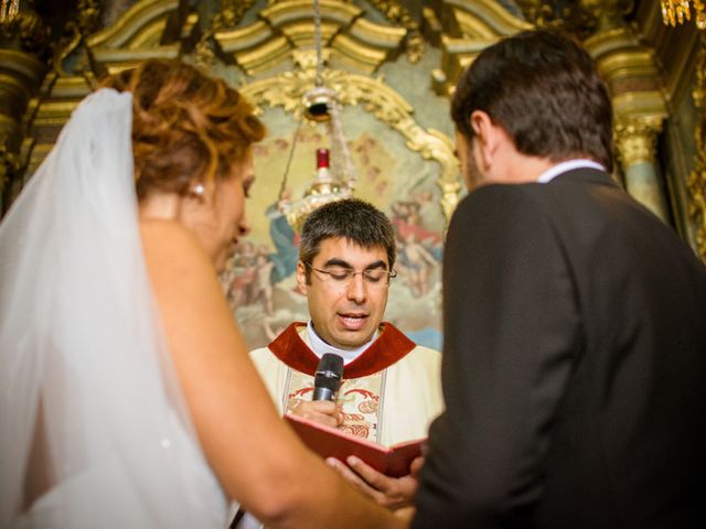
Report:
[[141,250],[131,95],[74,111],[0,225],[0,528],[223,527]]

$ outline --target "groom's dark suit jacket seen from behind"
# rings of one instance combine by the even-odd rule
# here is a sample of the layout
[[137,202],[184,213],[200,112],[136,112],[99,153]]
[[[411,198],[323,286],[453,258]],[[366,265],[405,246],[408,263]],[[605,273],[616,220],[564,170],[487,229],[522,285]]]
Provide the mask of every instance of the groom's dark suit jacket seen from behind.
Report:
[[461,201],[443,332],[414,528],[706,527],[706,268],[607,174]]

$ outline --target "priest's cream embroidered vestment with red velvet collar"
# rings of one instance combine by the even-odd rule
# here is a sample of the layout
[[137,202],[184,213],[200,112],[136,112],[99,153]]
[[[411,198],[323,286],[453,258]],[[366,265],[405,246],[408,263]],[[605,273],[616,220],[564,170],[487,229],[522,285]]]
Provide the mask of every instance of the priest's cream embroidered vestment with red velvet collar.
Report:
[[[308,333],[306,324],[292,323],[269,346],[250,352],[282,414],[298,399],[311,400],[319,358]],[[345,366],[343,378],[338,399],[344,417],[340,429],[385,446],[426,438],[429,424],[443,411],[441,354],[415,345],[389,323]],[[237,526],[261,527],[249,514]]]

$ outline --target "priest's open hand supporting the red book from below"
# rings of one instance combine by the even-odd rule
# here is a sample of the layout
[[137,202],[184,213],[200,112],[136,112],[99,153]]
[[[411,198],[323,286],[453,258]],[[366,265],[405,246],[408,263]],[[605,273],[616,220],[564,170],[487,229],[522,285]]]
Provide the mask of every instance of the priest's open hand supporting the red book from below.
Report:
[[388,477],[366,465],[355,456],[349,456],[345,463],[329,457],[327,464],[335,468],[349,483],[373,498],[383,507],[396,510],[411,505],[419,481],[417,475],[424,464],[424,457],[417,457],[409,466],[409,474],[403,477]]

